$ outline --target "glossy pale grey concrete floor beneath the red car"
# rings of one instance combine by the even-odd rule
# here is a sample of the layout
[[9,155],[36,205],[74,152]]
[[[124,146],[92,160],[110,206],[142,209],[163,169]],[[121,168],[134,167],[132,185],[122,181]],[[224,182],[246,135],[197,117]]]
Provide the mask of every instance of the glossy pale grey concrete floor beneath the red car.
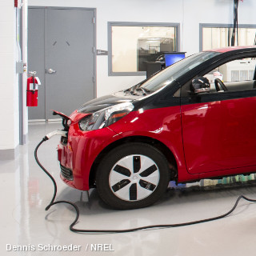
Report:
[[[71,206],[45,211],[53,184],[34,161],[34,148],[60,123],[30,123],[29,142],[15,161],[0,162],[0,255],[255,255],[256,204],[242,201],[230,217],[193,226],[126,234],[75,234]],[[70,200],[80,209],[77,228],[128,229],[137,226],[190,222],[224,214],[244,194],[256,198],[254,174],[190,186],[170,184],[164,198],[140,210],[111,210],[98,198],[67,187],[59,178],[58,137],[42,144],[38,158],[56,178],[57,200]],[[70,245],[73,245],[71,248]],[[101,251],[104,245],[105,251]],[[55,247],[54,247],[55,246]],[[58,246],[58,247],[56,247]],[[65,247],[70,246],[70,247]],[[72,251],[66,251],[70,249]],[[95,251],[99,250],[99,251]]]

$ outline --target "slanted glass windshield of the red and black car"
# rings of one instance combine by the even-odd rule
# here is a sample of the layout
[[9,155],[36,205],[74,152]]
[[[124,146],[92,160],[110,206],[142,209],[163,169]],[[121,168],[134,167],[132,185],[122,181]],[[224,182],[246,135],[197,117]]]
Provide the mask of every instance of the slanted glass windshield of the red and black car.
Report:
[[189,70],[194,69],[194,67],[202,64],[202,62],[206,62],[206,60],[213,58],[218,54],[220,53],[214,51],[200,52],[198,54],[190,55],[187,58],[183,58],[181,61],[174,63],[165,70],[162,70],[162,72],[142,83],[141,88],[150,92],[159,90],[163,86],[170,85],[171,82],[182,74],[185,74]]

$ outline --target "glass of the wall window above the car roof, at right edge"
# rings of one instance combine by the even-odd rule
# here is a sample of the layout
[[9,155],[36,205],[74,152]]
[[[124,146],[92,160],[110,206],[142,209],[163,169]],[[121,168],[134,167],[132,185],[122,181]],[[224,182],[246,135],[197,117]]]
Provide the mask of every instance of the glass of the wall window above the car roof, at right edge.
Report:
[[[211,50],[230,46],[230,38],[232,37],[233,27],[210,27],[202,26],[202,49]],[[235,46],[253,46],[255,43],[256,26],[238,28],[238,43],[237,34],[235,34]]]

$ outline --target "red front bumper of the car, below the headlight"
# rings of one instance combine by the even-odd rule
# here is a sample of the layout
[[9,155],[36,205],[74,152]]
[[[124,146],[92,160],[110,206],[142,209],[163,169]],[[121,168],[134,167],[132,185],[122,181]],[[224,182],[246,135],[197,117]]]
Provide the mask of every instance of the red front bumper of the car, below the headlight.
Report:
[[62,166],[73,170],[74,181],[69,181],[61,175],[67,185],[78,190],[89,190],[90,169],[98,154],[119,137],[110,128],[83,132],[78,122],[70,127],[66,146],[58,145],[58,160]]

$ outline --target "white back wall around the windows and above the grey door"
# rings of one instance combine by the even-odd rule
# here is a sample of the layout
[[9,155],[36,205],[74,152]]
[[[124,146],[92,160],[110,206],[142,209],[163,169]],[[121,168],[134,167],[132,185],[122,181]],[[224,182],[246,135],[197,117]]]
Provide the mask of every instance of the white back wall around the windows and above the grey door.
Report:
[[[199,23],[232,23],[233,0],[29,0],[30,6],[94,7],[97,10],[97,49],[108,50],[107,22],[178,22],[180,50],[199,50]],[[239,2],[238,22],[255,24],[256,1]],[[144,77],[109,77],[107,56],[97,57],[97,96],[134,85]]]

